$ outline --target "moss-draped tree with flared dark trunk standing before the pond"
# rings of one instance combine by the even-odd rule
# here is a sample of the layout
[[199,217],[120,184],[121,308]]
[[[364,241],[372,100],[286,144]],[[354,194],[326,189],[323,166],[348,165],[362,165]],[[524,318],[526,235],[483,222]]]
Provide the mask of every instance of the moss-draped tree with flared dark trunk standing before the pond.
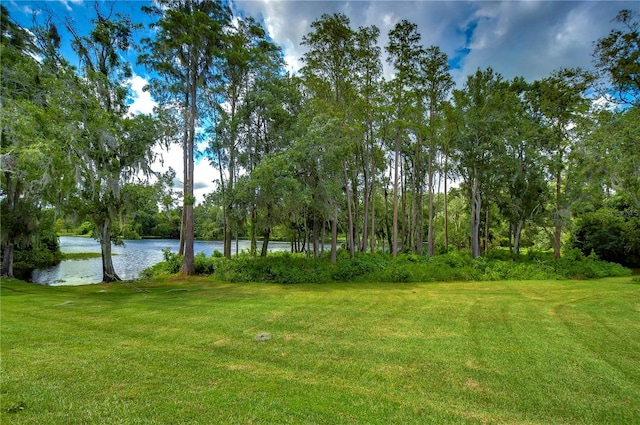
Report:
[[111,258],[113,228],[124,210],[122,187],[138,173],[150,173],[152,145],[158,133],[154,119],[127,116],[129,64],[122,52],[131,47],[132,25],[126,16],[103,14],[89,35],[81,36],[70,22],[72,47],[80,59],[82,77],[70,78],[69,104],[64,118],[73,128],[68,151],[77,188],[67,203],[72,211],[96,225],[102,251],[102,281],[120,280]]

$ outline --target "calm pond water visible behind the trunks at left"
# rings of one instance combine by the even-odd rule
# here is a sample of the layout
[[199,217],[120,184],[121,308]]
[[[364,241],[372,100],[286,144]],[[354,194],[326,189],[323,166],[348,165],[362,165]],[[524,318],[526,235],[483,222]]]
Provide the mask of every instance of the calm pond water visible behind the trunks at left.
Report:
[[[177,252],[179,241],[175,239],[142,239],[125,240],[124,246],[113,246],[113,266],[116,273],[124,280],[136,279],[147,267],[162,261],[162,250],[171,249]],[[249,241],[239,241],[239,250],[248,250]],[[258,243],[260,249],[260,242]],[[233,242],[235,253],[235,241]],[[269,242],[269,251],[287,251],[291,249],[288,242]],[[73,236],[60,237],[60,250],[63,253],[96,252],[100,253],[100,244],[91,238]],[[223,251],[222,241],[196,241],[195,253],[204,252],[210,256],[214,250]],[[66,260],[46,269],[34,270],[32,282],[43,285],[86,285],[99,283],[102,280],[102,259],[87,258],[83,260]]]

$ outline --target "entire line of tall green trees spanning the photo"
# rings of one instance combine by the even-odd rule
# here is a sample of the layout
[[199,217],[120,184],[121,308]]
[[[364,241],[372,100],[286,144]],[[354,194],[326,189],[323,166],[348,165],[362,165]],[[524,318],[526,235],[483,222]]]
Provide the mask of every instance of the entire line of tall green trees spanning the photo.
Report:
[[[140,25],[113,7],[95,4],[87,34],[63,22],[72,65],[60,23],[42,18],[27,31],[2,6],[3,276],[14,250],[50,226],[51,208],[91,223],[105,282],[119,280],[111,243],[132,223],[159,233],[141,224],[156,217],[157,226],[158,215],[173,236],[179,223],[185,274],[195,273],[198,232],[223,239],[227,257],[239,236],[263,256],[274,235],[309,256],[330,241],[333,261],[339,237],[352,257],[458,248],[475,258],[498,226],[514,253],[535,230],[559,258],[572,223],[584,224],[582,239],[572,233],[584,245],[602,211],[620,218],[620,233],[640,233],[637,12],[621,11],[594,41],[592,70],[531,82],[486,68],[456,87],[446,53],[407,20],[380,46],[377,27],[323,15],[292,75],[264,28],[225,2],[158,0],[143,10],[155,22],[138,46]],[[123,53],[134,47],[153,76],[152,115],[128,111]],[[157,147],[170,143],[183,148],[180,206],[175,176],[149,180]],[[216,191],[197,205],[196,157],[218,170]]]

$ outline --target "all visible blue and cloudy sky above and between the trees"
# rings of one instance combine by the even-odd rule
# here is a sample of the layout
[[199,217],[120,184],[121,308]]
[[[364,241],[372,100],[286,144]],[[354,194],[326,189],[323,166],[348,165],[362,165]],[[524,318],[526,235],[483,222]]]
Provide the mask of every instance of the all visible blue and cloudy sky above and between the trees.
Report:
[[[40,17],[52,13],[58,21],[71,18],[79,28],[93,16],[93,1],[2,0],[10,16],[30,27],[35,13]],[[134,22],[148,24],[149,17],[140,7],[150,1],[119,1],[119,12]],[[492,67],[511,79],[522,76],[527,81],[544,78],[560,68],[592,66],[593,43],[606,36],[615,24],[618,11],[639,11],[636,1],[314,1],[314,0],[232,0],[236,16],[253,16],[261,22],[272,41],[280,45],[291,72],[302,66],[305,47],[302,37],[311,23],[323,14],[343,13],[351,27],[376,25],[380,29],[378,45],[382,47],[384,73],[393,70],[384,60],[387,34],[402,19],[417,24],[425,47],[439,46],[449,57],[451,74],[458,88],[466,76],[478,68]],[[148,36],[142,31],[139,36]],[[63,38],[64,42],[64,38]],[[135,59],[133,59],[135,61]],[[153,99],[142,92],[150,75],[134,68],[131,81],[135,99],[132,112],[150,113]],[[182,175],[182,151],[178,146],[164,153],[164,167],[171,166]],[[195,170],[196,197],[213,190],[216,171],[208,161],[200,161]]]

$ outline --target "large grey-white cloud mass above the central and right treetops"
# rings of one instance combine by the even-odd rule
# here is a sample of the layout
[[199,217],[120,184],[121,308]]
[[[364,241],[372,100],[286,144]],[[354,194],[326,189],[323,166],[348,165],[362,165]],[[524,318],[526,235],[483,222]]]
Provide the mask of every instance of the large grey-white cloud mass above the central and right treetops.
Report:
[[[401,19],[418,25],[425,47],[439,46],[459,69],[458,87],[477,68],[492,67],[505,78],[532,81],[562,67],[591,66],[592,43],[612,28],[611,19],[631,1],[251,1],[234,7],[262,20],[283,47],[290,69],[299,69],[306,51],[302,37],[323,13],[345,13],[351,27],[376,25],[384,46]],[[473,24],[473,27],[469,27]],[[467,29],[469,29],[467,31]]]

